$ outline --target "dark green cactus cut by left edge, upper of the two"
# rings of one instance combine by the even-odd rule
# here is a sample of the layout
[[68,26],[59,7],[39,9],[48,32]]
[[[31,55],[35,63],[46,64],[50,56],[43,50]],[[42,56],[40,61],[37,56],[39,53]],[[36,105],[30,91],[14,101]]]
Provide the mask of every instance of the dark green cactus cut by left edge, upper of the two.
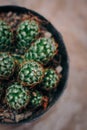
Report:
[[10,27],[0,20],[0,51],[8,51],[11,47],[12,32]]

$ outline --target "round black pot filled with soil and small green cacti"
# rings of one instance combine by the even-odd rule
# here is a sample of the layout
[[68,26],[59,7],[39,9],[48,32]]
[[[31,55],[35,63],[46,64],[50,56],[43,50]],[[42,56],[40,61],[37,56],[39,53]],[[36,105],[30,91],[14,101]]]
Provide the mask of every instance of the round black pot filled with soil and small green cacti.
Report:
[[67,77],[66,48],[52,24],[25,8],[0,7],[0,122],[21,123],[45,113]]

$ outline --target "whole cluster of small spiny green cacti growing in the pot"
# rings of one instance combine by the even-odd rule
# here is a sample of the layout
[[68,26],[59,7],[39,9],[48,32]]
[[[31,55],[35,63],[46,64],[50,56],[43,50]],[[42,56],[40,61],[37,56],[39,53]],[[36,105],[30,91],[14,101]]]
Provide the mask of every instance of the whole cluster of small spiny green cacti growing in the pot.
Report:
[[[48,63],[57,54],[58,45],[53,38],[40,37],[39,32],[40,26],[36,21],[21,22],[14,36],[14,52],[11,52],[8,48],[13,34],[10,27],[0,21],[0,83],[7,83],[6,87],[0,84],[0,95],[5,88],[5,103],[12,110],[18,111],[27,105],[37,108],[42,102],[47,103],[43,91],[50,92],[60,80],[55,68],[48,68]],[[20,54],[18,49],[24,50],[24,54]]]

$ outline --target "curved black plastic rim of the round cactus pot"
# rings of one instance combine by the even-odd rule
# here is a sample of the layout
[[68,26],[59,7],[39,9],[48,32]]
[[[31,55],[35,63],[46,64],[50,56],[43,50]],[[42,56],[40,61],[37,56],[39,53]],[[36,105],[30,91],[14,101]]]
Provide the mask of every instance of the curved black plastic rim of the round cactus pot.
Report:
[[[20,121],[18,123],[14,123],[14,124],[20,124],[20,123],[25,123],[25,122],[31,122],[31,121],[34,121],[34,120],[38,119],[44,113],[46,113],[46,111],[48,111],[55,104],[55,102],[59,99],[59,97],[63,93],[63,90],[65,89],[66,82],[67,82],[67,79],[68,79],[69,60],[68,60],[68,55],[67,55],[67,51],[66,51],[66,48],[65,48],[65,43],[63,41],[63,38],[62,38],[61,34],[54,28],[54,26],[48,20],[46,20],[40,14],[38,14],[38,13],[32,11],[32,10],[23,8],[23,7],[18,7],[18,6],[0,6],[0,13],[1,12],[9,12],[9,11],[12,11],[12,12],[15,12],[15,13],[28,13],[28,12],[30,12],[33,15],[38,16],[39,19],[45,21],[45,27],[47,28],[47,30],[49,32],[52,33],[52,35],[54,36],[55,40],[58,42],[59,53],[61,54],[61,59],[62,59],[61,66],[63,68],[63,70],[61,72],[62,73],[62,79],[61,79],[61,81],[60,81],[60,83],[58,85],[57,90],[55,91],[55,93],[53,95],[53,99],[50,102],[48,108],[46,110],[41,111],[40,113],[32,114],[31,118],[22,120],[22,121]],[[3,124],[6,124],[6,123],[3,123]],[[11,124],[11,123],[7,123],[7,124]]]

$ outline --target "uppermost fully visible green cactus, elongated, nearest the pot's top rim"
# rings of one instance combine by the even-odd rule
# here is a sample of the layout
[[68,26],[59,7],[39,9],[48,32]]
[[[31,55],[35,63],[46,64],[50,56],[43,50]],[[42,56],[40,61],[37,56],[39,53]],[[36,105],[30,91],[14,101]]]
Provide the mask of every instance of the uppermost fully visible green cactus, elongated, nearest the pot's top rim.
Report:
[[38,23],[34,20],[25,20],[18,26],[17,29],[17,47],[19,49],[29,48],[31,42],[35,40],[39,33]]

